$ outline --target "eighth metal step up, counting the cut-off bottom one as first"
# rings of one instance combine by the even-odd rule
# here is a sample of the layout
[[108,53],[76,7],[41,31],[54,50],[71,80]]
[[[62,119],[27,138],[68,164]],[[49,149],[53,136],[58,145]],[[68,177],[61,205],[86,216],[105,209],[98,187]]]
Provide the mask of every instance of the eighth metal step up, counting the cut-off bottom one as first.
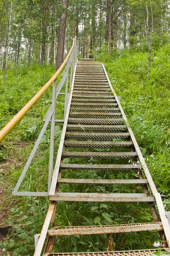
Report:
[[113,139],[126,139],[130,138],[130,134],[126,133],[88,133],[88,132],[68,132],[66,131],[65,137],[70,140],[113,140]]

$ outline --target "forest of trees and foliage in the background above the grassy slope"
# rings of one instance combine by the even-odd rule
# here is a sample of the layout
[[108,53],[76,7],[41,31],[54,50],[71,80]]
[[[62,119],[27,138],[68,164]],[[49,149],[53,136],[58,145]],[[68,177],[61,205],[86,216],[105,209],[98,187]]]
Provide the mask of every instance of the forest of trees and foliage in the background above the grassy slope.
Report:
[[[120,49],[145,52],[148,39],[156,49],[169,40],[169,5],[169,0],[0,0],[0,69],[7,58],[12,66],[56,66],[57,52],[65,41],[66,55],[75,35],[83,58],[101,47],[110,54]],[[59,41],[57,51],[63,12],[65,40]]]

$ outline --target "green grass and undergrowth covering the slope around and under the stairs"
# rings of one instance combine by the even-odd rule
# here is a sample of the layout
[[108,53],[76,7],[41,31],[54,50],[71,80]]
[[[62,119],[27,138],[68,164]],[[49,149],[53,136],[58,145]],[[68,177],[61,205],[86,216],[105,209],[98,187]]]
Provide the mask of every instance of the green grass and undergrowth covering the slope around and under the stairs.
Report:
[[[148,75],[148,53],[120,51],[108,55],[107,49],[94,52],[98,61],[104,62],[111,84],[116,94],[121,96],[121,104],[127,115],[136,140],[142,150],[147,166],[166,210],[170,210],[170,44],[152,52],[151,72]],[[52,66],[32,66],[8,71],[6,84],[0,83],[0,128],[25,105],[29,99],[54,74]],[[3,72],[0,76],[3,77]],[[42,128],[43,117],[51,100],[51,88],[29,111],[21,122],[0,144],[0,192],[5,195],[0,212],[6,212],[3,225],[10,226],[9,234],[0,242],[0,253],[11,256],[32,256],[34,254],[34,234],[40,233],[49,206],[48,198],[11,197],[23,165],[33,148],[37,134]],[[63,97],[60,96],[57,119],[62,118]],[[55,156],[59,145],[62,125],[56,125]],[[28,170],[22,189],[45,191],[47,189],[49,134],[45,136]],[[65,162],[67,159],[65,160]],[[71,161],[71,160],[68,160]],[[87,161],[87,160],[85,160]],[[91,159],[88,163],[97,163]],[[106,161],[106,160],[105,160]],[[108,162],[107,162],[108,161]],[[106,162],[109,163],[109,160]],[[105,162],[105,163],[106,163]],[[102,162],[104,163],[104,162]],[[63,172],[64,177],[100,178],[100,172]],[[133,178],[135,174],[107,172],[103,178]],[[130,192],[126,186],[60,186],[63,192]],[[140,188],[138,189],[140,192]],[[0,194],[0,195],[1,195]],[[4,211],[5,210],[5,211]],[[104,225],[150,222],[152,217],[147,204],[136,203],[83,203],[58,202],[56,224]],[[1,224],[1,222],[0,222]],[[115,250],[153,248],[159,240],[157,232],[113,234]],[[56,239],[55,250],[59,252],[105,251],[108,235],[65,236]],[[8,255],[10,255],[8,254]]]

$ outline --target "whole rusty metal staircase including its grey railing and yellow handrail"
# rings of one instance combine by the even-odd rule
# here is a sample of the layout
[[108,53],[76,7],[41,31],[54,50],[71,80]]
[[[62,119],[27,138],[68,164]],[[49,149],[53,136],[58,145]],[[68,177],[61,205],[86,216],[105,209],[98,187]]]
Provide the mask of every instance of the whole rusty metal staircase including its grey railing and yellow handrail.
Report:
[[[43,120],[43,128],[13,191],[13,195],[17,196],[49,197],[50,205],[34,256],[41,256],[42,253],[44,256],[154,256],[153,253],[156,252],[156,249],[113,252],[113,246],[111,246],[113,233],[152,230],[159,232],[162,250],[169,251],[170,225],[167,213],[122,109],[119,97],[113,90],[104,65],[90,59],[77,61],[78,52],[79,41],[75,37],[71,50],[59,70],[0,131],[1,141],[53,83],[52,103]],[[57,87],[56,79],[64,67],[62,79]],[[65,93],[60,93],[64,84]],[[55,119],[56,99],[59,95],[65,95],[64,119]],[[25,189],[19,191],[50,121],[48,191],[32,192],[25,191]],[[64,122],[64,125],[53,168],[56,122]],[[88,171],[89,175],[83,175],[83,178],[77,175],[88,173]],[[123,173],[125,171],[131,174],[129,175],[130,179],[110,179],[107,176],[108,172],[116,174],[116,172]],[[99,173],[100,175],[94,176],[90,173]],[[71,177],[71,174],[74,174],[74,177]],[[114,176],[116,177],[116,175]],[[69,192],[63,189],[65,186],[63,184],[69,186]],[[77,189],[77,184],[79,184],[79,189]],[[114,193],[112,188],[118,184],[121,186],[122,192]],[[85,185],[91,186],[92,192],[84,191]],[[104,192],[96,189],[96,185],[98,188],[105,187]],[[125,186],[131,189],[129,193],[124,189]],[[116,202],[116,204],[147,202],[153,222],[58,227],[54,222],[57,201],[86,202],[87,207],[88,202],[106,202],[106,204],[109,204],[107,202]],[[56,236],[95,234],[110,234],[107,252],[52,252]],[[35,237],[37,238],[37,235]]]

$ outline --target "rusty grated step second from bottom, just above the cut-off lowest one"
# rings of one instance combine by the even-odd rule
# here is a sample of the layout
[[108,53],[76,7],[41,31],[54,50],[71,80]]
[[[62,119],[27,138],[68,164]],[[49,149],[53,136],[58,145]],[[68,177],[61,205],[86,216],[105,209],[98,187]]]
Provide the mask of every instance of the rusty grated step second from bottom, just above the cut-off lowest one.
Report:
[[126,233],[150,230],[162,230],[161,222],[135,223],[121,225],[103,226],[77,226],[77,227],[58,227],[54,226],[48,230],[48,236],[73,236],[73,235],[94,235],[110,233]]

